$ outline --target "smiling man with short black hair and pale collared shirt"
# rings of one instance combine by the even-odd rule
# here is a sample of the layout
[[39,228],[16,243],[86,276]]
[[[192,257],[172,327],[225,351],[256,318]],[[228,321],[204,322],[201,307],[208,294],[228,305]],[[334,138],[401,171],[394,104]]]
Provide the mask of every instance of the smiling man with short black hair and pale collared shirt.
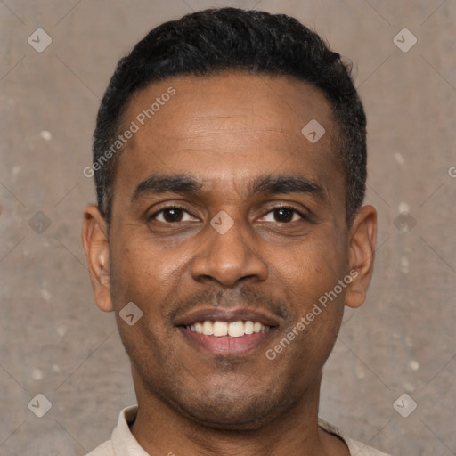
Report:
[[384,454],[318,419],[377,225],[338,53],[285,15],[162,24],[110,80],[93,173],[83,243],[138,406],[92,456]]

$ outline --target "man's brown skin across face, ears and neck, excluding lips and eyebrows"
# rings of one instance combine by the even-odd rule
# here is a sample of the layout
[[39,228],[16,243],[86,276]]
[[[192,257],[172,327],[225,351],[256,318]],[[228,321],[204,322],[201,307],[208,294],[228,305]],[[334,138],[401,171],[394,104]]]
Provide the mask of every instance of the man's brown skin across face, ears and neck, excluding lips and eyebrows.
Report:
[[[94,299],[115,311],[132,363],[139,410],[131,430],[154,455],[347,455],[342,440],[317,427],[322,367],[344,305],[364,302],[377,221],[364,206],[346,224],[330,104],[313,85],[289,77],[174,77],[136,93],[123,126],[170,85],[175,95],[119,157],[109,239],[98,208],[84,213]],[[313,118],[326,130],[314,144],[301,134]],[[132,202],[150,175],[187,175],[202,186],[190,194],[142,193]],[[305,177],[321,191],[252,193],[254,179],[265,175]],[[175,204],[184,210],[152,216]],[[222,210],[234,222],[224,234],[210,224]],[[352,269],[354,280],[268,360],[265,350]],[[131,301],[143,315],[128,326],[118,312]],[[208,354],[173,324],[201,305],[234,303],[279,322],[273,338],[248,354]]]

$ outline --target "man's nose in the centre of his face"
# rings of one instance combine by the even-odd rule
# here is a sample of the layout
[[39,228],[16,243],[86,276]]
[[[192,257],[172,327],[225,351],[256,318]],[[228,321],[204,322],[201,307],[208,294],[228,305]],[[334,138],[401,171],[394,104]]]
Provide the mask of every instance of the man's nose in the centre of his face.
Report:
[[222,222],[222,229],[211,224],[201,233],[205,239],[191,263],[193,279],[199,282],[216,281],[224,287],[232,287],[246,279],[265,281],[268,268],[257,253],[258,246],[254,245],[255,240],[248,227],[231,219],[234,223],[226,230],[226,220],[218,219],[218,222]]

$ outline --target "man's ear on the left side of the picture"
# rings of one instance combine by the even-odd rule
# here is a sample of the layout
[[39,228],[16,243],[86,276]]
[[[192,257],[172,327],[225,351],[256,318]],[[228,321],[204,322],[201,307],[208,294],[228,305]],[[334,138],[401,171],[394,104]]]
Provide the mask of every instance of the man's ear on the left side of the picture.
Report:
[[102,311],[111,312],[113,306],[110,298],[110,245],[107,224],[94,204],[84,209],[82,243],[94,289],[95,303]]

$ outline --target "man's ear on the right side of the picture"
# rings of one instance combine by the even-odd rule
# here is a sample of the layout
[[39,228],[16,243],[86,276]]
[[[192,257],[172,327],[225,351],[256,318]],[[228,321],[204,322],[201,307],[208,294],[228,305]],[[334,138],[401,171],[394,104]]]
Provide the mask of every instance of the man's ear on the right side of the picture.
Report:
[[348,264],[352,281],[347,287],[346,305],[356,308],[366,299],[367,289],[371,283],[377,240],[375,208],[363,206],[356,213],[349,236]]

